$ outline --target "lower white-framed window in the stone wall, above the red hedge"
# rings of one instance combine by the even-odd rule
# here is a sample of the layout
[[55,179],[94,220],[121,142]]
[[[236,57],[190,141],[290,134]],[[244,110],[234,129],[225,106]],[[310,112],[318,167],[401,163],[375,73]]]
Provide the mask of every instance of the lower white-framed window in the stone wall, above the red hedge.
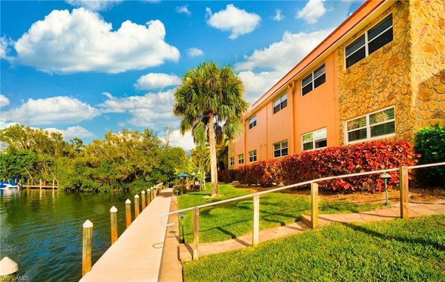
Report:
[[396,132],[394,107],[346,122],[346,142],[379,138]]

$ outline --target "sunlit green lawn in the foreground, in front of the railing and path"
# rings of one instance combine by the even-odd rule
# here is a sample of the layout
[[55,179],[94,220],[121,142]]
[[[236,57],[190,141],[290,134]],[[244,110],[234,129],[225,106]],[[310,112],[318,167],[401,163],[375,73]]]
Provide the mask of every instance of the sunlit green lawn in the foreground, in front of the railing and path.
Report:
[[184,281],[445,281],[445,215],[335,223],[203,256]]

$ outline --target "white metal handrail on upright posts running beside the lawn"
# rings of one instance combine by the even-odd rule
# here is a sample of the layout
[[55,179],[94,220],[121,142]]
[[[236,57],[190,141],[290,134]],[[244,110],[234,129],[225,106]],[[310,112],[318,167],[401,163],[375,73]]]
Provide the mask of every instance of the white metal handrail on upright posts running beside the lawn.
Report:
[[344,175],[338,175],[338,176],[328,176],[328,177],[323,177],[321,179],[313,179],[310,181],[305,181],[305,182],[300,182],[300,183],[296,183],[296,184],[292,184],[292,185],[287,185],[287,186],[283,186],[283,187],[279,187],[279,188],[273,188],[270,190],[266,190],[266,191],[261,191],[261,192],[255,192],[253,194],[247,194],[241,197],[235,197],[235,198],[231,198],[231,199],[225,199],[222,201],[216,201],[213,203],[209,203],[209,204],[203,204],[200,206],[193,206],[190,208],[183,208],[181,210],[175,210],[172,211],[170,213],[165,213],[164,215],[161,216],[161,224],[163,224],[164,226],[172,226],[175,223],[170,223],[170,224],[166,224],[164,222],[165,217],[167,217],[168,215],[175,215],[178,213],[184,213],[188,210],[193,210],[193,260],[198,258],[198,245],[199,245],[199,217],[200,217],[200,208],[206,208],[209,206],[216,206],[219,204],[225,204],[225,203],[229,203],[231,201],[238,201],[241,199],[248,199],[250,197],[252,197],[253,200],[253,232],[252,232],[252,245],[256,246],[258,244],[258,240],[259,240],[259,196],[261,194],[267,194],[267,193],[271,193],[271,192],[277,192],[280,190],[285,190],[285,189],[289,189],[289,188],[295,188],[295,187],[299,187],[302,185],[308,185],[311,184],[311,221],[312,221],[312,229],[316,229],[318,226],[318,184],[316,182],[319,181],[327,181],[327,180],[332,180],[332,179],[344,179],[344,178],[349,178],[349,177],[354,177],[354,176],[363,176],[363,175],[369,175],[369,174],[380,174],[380,173],[384,173],[384,172],[395,172],[395,171],[399,171],[399,181],[400,181],[400,192],[401,192],[401,196],[400,196],[400,201],[401,201],[401,217],[402,218],[407,218],[408,217],[408,169],[419,169],[419,168],[424,168],[424,167],[435,167],[435,166],[440,166],[440,165],[445,165],[444,163],[431,163],[431,164],[426,164],[426,165],[412,165],[410,167],[400,167],[400,168],[391,168],[391,169],[380,169],[380,170],[375,170],[375,171],[371,171],[371,172],[358,172],[355,174],[344,174]]

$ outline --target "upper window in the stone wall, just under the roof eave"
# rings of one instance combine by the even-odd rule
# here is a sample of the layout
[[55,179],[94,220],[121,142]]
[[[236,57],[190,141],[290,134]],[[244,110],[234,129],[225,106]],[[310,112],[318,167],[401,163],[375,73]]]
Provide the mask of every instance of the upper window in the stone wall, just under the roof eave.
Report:
[[392,14],[346,47],[346,68],[392,41]]

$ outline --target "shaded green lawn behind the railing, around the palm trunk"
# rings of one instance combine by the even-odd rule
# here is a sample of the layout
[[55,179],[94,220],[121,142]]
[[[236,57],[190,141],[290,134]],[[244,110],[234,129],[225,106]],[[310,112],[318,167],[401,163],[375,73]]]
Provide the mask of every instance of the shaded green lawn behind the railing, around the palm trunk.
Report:
[[[220,197],[206,197],[209,196],[210,189],[183,194],[178,199],[179,208],[199,206],[253,192],[254,190],[248,188],[234,188],[231,184],[219,185]],[[320,213],[357,213],[380,208],[383,204],[355,204],[346,200],[321,201],[318,209]],[[200,208],[200,242],[229,240],[252,233],[252,208],[252,198]],[[260,198],[259,210],[260,230],[298,222],[300,215],[310,213],[310,196],[282,192],[264,194]],[[184,218],[184,233],[186,242],[193,242],[192,211],[188,211]]]

